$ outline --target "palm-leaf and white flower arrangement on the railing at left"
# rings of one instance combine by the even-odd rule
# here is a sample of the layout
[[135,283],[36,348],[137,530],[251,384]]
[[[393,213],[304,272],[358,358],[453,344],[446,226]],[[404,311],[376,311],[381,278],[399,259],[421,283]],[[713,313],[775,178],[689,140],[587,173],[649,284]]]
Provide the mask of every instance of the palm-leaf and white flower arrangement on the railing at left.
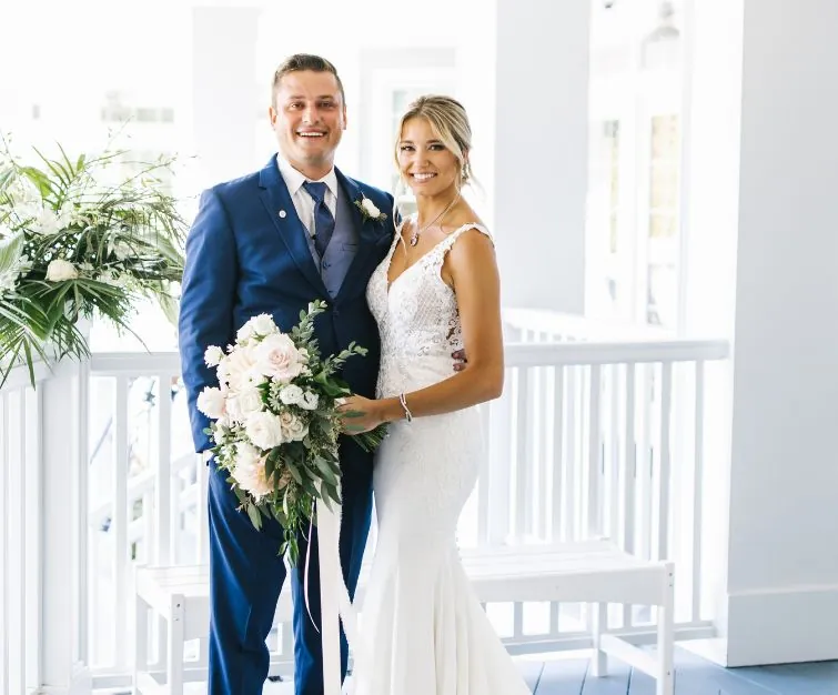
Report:
[[129,330],[132,306],[150,298],[174,316],[170,288],[183,273],[186,224],[160,187],[173,160],[131,162],[108,183],[123,151],[49,159],[39,167],[0,151],[0,385],[26,363],[89,354],[80,318],[94,313]]

